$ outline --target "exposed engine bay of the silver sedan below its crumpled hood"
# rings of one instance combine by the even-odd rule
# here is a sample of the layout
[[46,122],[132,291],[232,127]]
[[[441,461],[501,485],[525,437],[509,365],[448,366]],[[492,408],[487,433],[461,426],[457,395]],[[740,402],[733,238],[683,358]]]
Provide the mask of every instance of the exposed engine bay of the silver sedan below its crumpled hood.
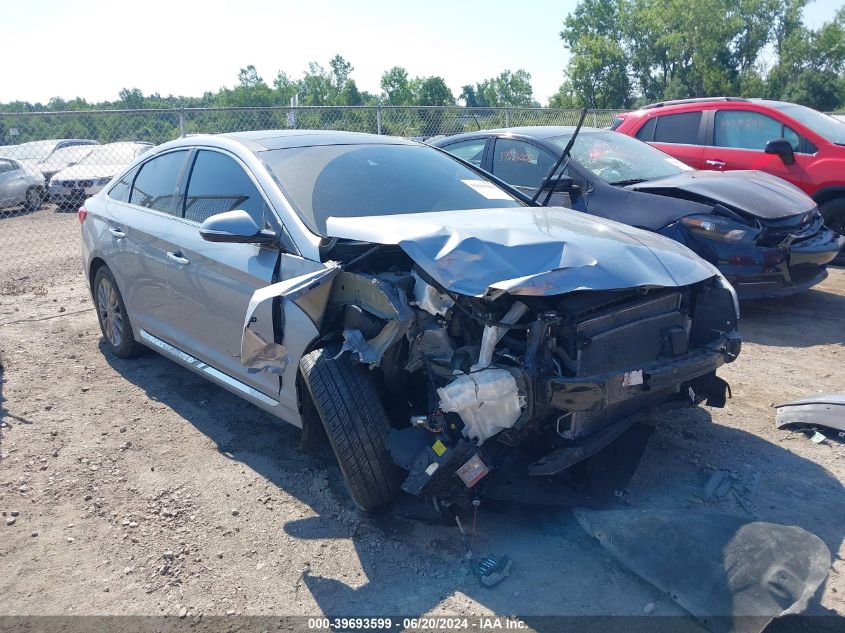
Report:
[[733,294],[718,277],[472,297],[444,289],[395,247],[360,250],[331,253],[347,263],[328,273],[321,330],[377,377],[406,492],[468,500],[514,451],[532,456],[530,474],[554,475],[643,410],[725,403],[715,370],[740,340]]

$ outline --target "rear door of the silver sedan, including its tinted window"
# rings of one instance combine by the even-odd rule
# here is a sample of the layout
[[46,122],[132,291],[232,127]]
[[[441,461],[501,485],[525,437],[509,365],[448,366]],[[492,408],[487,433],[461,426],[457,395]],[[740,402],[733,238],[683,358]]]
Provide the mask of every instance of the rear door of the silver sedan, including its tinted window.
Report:
[[188,150],[156,156],[125,174],[106,196],[101,248],[133,324],[172,339],[168,241]]

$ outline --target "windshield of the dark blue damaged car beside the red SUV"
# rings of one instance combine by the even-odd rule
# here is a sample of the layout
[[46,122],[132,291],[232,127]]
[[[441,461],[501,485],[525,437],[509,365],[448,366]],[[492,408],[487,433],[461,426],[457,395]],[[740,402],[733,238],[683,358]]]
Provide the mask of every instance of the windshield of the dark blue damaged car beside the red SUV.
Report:
[[[571,136],[558,136],[552,141],[564,149]],[[647,143],[611,131],[578,134],[572,158],[612,185],[666,178],[692,169]]]

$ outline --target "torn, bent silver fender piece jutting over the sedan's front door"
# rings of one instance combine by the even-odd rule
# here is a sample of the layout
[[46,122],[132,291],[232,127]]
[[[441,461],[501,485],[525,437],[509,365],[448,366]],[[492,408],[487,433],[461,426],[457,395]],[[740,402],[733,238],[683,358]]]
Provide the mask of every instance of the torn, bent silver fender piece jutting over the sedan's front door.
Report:
[[[267,341],[255,331],[258,322],[256,311],[265,301],[272,301],[281,297],[286,301],[295,301],[298,297],[315,290],[324,282],[332,280],[340,271],[338,264],[328,262],[326,268],[285,279],[279,283],[265,286],[256,290],[249,300],[244,317],[243,335],[241,337],[241,363],[250,372],[268,371],[283,374],[288,366],[287,349],[284,345]],[[272,326],[265,329],[272,331]]]

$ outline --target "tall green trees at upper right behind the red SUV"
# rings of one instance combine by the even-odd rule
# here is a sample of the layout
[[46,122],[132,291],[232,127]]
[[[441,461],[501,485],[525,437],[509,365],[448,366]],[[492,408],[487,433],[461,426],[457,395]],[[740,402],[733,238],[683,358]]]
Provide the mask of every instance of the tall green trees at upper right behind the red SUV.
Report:
[[845,108],[845,6],[817,29],[808,0],[580,0],[550,105],[630,108],[715,95]]

